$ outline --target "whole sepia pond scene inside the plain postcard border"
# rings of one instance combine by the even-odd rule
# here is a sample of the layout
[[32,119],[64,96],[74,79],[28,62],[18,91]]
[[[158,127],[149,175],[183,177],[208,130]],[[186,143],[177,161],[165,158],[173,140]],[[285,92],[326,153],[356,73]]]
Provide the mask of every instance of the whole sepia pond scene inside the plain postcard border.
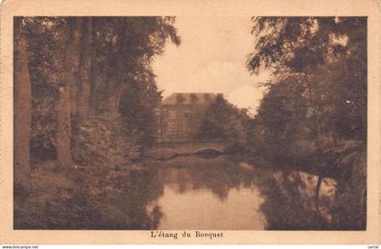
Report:
[[366,230],[366,31],[15,17],[14,229]]

